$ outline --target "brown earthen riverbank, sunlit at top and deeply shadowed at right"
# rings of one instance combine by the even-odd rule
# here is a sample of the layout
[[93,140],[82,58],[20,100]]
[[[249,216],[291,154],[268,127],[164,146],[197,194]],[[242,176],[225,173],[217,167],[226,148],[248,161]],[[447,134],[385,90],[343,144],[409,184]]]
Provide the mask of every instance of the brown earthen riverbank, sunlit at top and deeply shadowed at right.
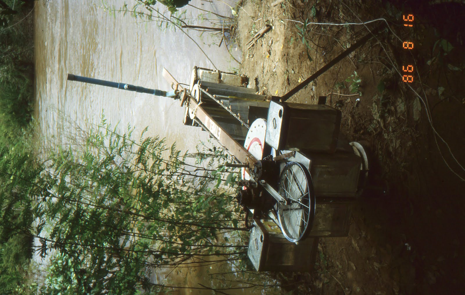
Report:
[[[465,4],[272,2],[244,1],[237,35],[243,50],[239,71],[250,78],[249,87],[268,95],[286,94],[365,36],[367,28],[383,24],[304,26],[305,22],[384,18],[392,29],[381,29],[288,101],[317,103],[319,96],[326,96],[326,104],[342,111],[343,134],[365,144],[371,161],[370,180],[354,205],[349,235],[320,239],[312,273],[275,274],[283,290],[463,294]],[[415,17],[412,27],[403,26],[402,15],[409,13]],[[247,42],[265,25],[272,26],[271,31],[247,49]],[[414,50],[403,50],[400,40],[412,42]],[[405,64],[414,67],[407,72],[413,83],[402,81]]]

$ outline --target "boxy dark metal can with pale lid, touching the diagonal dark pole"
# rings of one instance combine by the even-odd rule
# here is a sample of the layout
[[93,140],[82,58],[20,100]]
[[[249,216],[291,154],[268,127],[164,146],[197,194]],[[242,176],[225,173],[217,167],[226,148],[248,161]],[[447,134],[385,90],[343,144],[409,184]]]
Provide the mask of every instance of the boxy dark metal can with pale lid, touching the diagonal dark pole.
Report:
[[265,141],[276,150],[336,151],[341,111],[328,105],[270,102]]

